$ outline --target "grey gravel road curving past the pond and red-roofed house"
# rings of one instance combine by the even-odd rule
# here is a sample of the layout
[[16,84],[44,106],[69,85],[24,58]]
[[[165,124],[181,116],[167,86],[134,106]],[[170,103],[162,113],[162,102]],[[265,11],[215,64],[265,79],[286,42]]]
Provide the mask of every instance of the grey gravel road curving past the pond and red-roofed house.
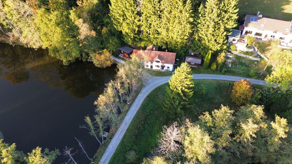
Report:
[[[165,77],[154,77],[150,76],[144,87],[141,89],[140,94],[135,99],[134,103],[131,105],[126,117],[124,118],[122,124],[120,125],[118,131],[114,135],[113,139],[109,143],[106,151],[104,152],[101,160],[99,161],[100,164],[107,164],[112,157],[113,153],[116,150],[116,147],[119,145],[120,140],[122,139],[124,133],[126,132],[130,122],[134,118],[137,110],[139,109],[140,105],[146,98],[146,96],[154,90],[156,87],[168,83],[168,80],[171,76]],[[257,80],[257,79],[250,79],[246,77],[236,77],[236,76],[227,76],[227,75],[213,75],[213,74],[193,74],[193,79],[214,79],[214,80],[230,80],[230,81],[238,81],[241,79],[249,79],[250,82],[253,84],[264,85],[266,86],[266,81],[264,80]]]

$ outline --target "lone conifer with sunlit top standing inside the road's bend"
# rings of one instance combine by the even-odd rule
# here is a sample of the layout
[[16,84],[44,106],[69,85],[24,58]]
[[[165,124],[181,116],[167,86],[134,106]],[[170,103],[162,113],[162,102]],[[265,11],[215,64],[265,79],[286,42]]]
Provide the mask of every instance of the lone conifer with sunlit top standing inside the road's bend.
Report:
[[163,109],[170,117],[184,114],[183,110],[189,107],[189,99],[193,95],[193,86],[191,68],[187,63],[182,63],[170,78],[169,87],[166,87]]

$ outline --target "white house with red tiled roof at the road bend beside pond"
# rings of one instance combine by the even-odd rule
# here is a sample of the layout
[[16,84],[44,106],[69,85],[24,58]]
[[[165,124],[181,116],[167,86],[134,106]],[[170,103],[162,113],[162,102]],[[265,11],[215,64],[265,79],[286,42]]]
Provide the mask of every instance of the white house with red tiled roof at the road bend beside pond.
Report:
[[174,69],[176,53],[158,51],[154,45],[151,45],[146,50],[134,49],[133,54],[140,59],[144,59],[144,56],[148,58],[148,61],[144,62],[145,68],[161,71],[173,71]]

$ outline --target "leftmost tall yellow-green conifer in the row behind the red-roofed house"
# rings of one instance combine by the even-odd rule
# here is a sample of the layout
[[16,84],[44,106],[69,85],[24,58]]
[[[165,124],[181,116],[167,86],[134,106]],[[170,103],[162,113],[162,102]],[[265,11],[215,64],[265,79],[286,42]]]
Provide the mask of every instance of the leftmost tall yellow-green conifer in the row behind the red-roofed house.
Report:
[[121,31],[128,44],[137,43],[139,18],[135,0],[111,0],[109,15],[114,27]]

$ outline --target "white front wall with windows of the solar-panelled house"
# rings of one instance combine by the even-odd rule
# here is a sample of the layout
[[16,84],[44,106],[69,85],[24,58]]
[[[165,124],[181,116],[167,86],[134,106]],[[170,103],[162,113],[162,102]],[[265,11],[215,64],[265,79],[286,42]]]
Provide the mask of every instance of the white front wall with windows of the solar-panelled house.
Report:
[[[285,35],[285,34],[282,34],[280,32],[272,32],[272,31],[267,31],[267,30],[260,30],[260,29],[255,29],[255,28],[249,28],[249,27],[245,27],[242,34],[244,35],[245,34],[245,31],[252,31],[251,34],[247,34],[249,36],[254,36],[256,38],[259,38],[259,39],[263,39],[263,40],[269,40],[269,39],[279,39],[280,40],[280,37],[282,38],[285,38],[285,40],[280,40],[281,42],[284,42],[284,43],[287,43],[288,45],[291,44],[290,41],[292,40],[292,34],[288,34],[288,35]],[[255,36],[255,33],[258,32],[258,33],[262,33],[262,36]],[[265,36],[267,35],[267,38],[265,38]],[[271,37],[271,36],[275,36],[274,38]]]

